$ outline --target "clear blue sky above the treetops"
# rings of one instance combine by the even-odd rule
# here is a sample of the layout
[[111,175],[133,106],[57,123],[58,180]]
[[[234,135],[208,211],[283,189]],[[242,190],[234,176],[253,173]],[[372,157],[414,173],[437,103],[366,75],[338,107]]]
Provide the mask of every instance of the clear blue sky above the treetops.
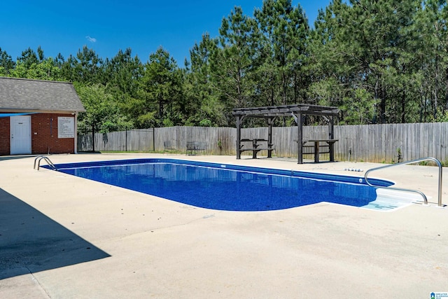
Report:
[[[319,8],[330,0],[294,1],[314,23]],[[221,20],[235,6],[246,15],[261,8],[262,0],[9,0],[2,1],[0,48],[15,61],[28,47],[43,49],[45,57],[65,58],[80,48],[92,48],[99,57],[112,58],[132,49],[146,62],[160,46],[183,67],[189,50],[202,34],[218,36]]]

